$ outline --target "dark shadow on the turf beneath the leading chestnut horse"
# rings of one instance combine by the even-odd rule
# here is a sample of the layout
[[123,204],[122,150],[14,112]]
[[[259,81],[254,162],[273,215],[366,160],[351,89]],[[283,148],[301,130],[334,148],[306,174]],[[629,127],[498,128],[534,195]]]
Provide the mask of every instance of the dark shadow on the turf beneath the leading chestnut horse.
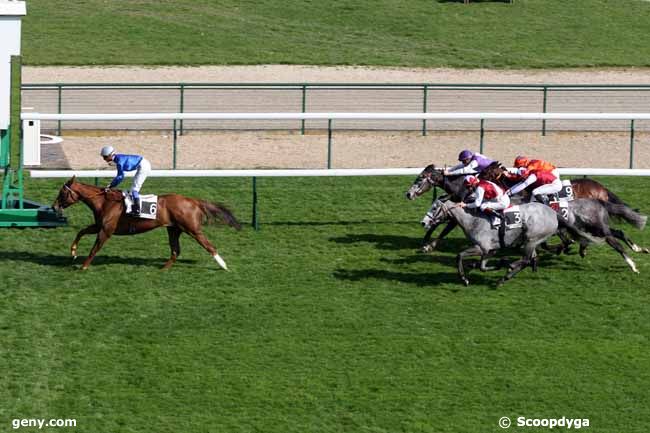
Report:
[[[0,261],[12,260],[20,262],[35,263],[37,265],[70,267],[81,265],[86,256],[79,256],[72,260],[72,256],[66,254],[36,254],[27,251],[0,251]],[[161,268],[168,257],[120,257],[120,256],[97,256],[91,266],[97,265],[132,265]],[[194,259],[179,258],[176,263],[197,263]]]

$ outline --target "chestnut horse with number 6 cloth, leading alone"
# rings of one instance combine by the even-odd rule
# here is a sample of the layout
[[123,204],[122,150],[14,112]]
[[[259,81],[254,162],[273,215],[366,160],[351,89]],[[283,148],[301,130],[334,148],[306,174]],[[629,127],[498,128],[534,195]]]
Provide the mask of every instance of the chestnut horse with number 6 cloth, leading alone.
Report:
[[95,223],[77,233],[70,247],[72,256],[77,257],[77,245],[82,236],[97,234],[95,244],[84,260],[82,269],[88,269],[97,252],[112,235],[135,235],[166,227],[171,257],[165,262],[164,269],[170,268],[176,262],[181,253],[180,235],[187,233],[212,255],[219,266],[227,270],[226,262],[201,231],[202,225],[207,220],[220,218],[235,229],[241,229],[235,216],[223,205],[178,194],[158,196],[156,219],[132,217],[124,213],[121,191],[104,192],[103,188],[77,182],[74,176],[61,187],[52,207],[59,212],[79,201],[92,210]]

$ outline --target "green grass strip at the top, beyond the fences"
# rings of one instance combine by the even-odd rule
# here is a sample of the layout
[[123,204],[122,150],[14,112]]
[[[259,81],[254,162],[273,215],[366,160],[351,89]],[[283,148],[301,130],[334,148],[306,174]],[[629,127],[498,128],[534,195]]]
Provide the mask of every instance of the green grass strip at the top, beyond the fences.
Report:
[[29,0],[25,65],[650,66],[640,0]]

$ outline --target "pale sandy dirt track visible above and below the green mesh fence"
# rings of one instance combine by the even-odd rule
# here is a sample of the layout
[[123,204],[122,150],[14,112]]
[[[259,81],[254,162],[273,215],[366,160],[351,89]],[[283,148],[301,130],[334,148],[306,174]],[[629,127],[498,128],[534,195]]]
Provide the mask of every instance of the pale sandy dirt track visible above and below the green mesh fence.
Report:
[[[437,82],[501,84],[650,84],[645,69],[489,71],[301,66],[201,68],[25,68],[24,82]],[[636,111],[636,110],[635,110]],[[490,131],[485,153],[510,162],[524,153],[564,167],[626,168],[629,132]],[[61,147],[43,148],[44,166],[106,168],[97,156],[105,144],[147,155],[154,168],[169,168],[172,137],[161,134],[68,136]],[[635,134],[635,167],[650,168],[650,133]],[[452,164],[459,149],[478,150],[478,131],[335,131],[335,168],[422,167]],[[327,135],[294,131],[190,133],[179,137],[178,168],[324,168]]]

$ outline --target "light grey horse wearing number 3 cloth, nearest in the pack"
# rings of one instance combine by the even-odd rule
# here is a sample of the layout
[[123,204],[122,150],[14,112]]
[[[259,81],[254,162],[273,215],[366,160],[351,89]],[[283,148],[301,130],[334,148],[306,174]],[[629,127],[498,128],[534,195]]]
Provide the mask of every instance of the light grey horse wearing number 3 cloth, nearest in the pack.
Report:
[[[435,201],[422,220],[422,225],[426,228],[453,219],[463,229],[465,237],[472,243],[472,246],[458,253],[456,263],[458,275],[467,286],[469,285],[469,279],[465,272],[463,259],[470,256],[480,256],[479,269],[481,271],[497,269],[496,267],[489,267],[487,261],[501,249],[501,243],[499,242],[498,230],[492,228],[489,217],[462,208],[459,204],[451,200]],[[503,244],[505,247],[522,246],[524,254],[521,259],[509,265],[508,272],[499,280],[497,286],[514,277],[528,265],[531,265],[533,270],[536,270],[536,248],[556,234],[560,226],[567,228],[578,239],[585,238],[586,241],[599,242],[597,238],[593,238],[588,233],[577,229],[553,209],[541,203],[534,202],[520,205],[519,215],[522,227],[507,230],[504,234]]]

